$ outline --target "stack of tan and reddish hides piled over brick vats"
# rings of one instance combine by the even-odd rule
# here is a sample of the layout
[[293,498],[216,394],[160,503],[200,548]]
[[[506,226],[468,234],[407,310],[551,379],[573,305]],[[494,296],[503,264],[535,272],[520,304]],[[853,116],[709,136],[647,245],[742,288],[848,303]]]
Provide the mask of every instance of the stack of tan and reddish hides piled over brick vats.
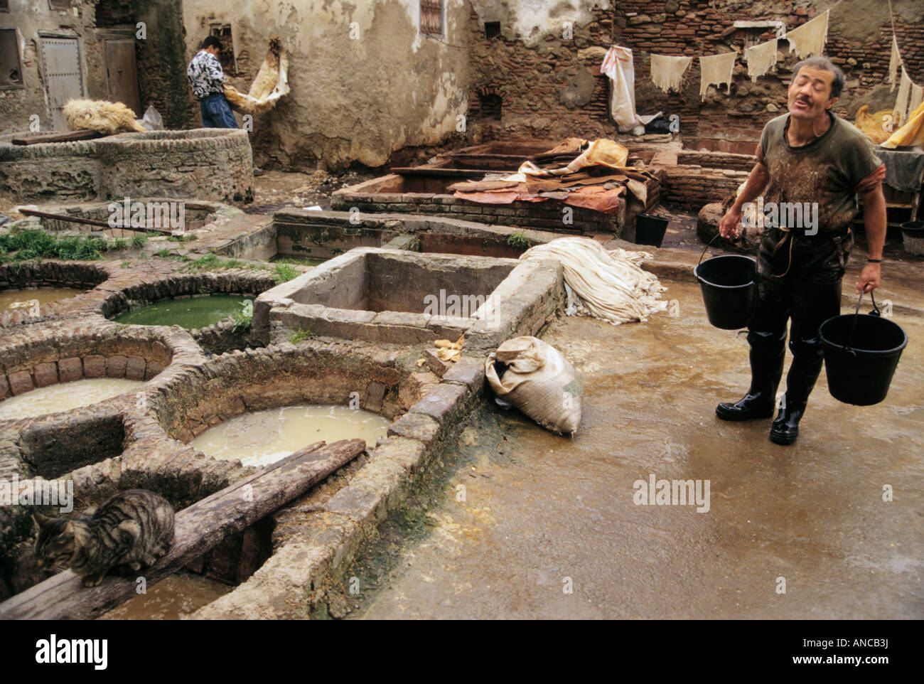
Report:
[[656,178],[650,171],[626,166],[627,160],[628,150],[613,140],[589,143],[568,138],[524,162],[512,176],[492,174],[480,181],[454,183],[449,190],[460,199],[482,204],[561,202],[615,214],[626,188],[645,204],[647,184]]

